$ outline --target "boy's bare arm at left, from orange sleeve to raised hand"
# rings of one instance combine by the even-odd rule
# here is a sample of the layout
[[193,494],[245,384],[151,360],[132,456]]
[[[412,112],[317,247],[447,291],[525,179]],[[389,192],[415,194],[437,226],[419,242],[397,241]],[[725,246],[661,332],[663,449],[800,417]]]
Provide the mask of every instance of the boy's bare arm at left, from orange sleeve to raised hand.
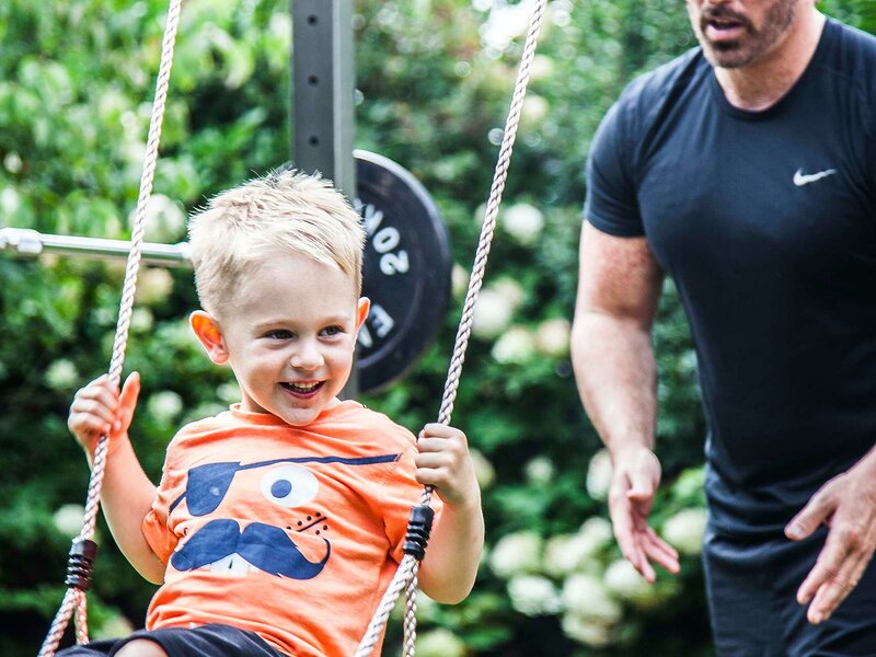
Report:
[[119,394],[104,376],[80,390],[70,406],[68,426],[93,465],[97,438],[108,436],[101,503],[119,550],[143,578],[161,584],[164,564],[141,531],[152,507],[155,486],[143,472],[128,438],[140,378],[134,372]]

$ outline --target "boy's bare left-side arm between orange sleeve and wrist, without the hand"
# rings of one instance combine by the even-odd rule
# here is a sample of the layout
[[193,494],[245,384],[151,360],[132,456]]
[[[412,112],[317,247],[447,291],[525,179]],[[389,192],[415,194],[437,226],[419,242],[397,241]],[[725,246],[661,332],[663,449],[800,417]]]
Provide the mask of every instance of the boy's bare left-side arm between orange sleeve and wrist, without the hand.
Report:
[[147,580],[160,584],[164,564],[143,538],[141,526],[152,506],[155,486],[149,481],[134,448],[119,437],[106,461],[101,503],[110,531],[125,557]]

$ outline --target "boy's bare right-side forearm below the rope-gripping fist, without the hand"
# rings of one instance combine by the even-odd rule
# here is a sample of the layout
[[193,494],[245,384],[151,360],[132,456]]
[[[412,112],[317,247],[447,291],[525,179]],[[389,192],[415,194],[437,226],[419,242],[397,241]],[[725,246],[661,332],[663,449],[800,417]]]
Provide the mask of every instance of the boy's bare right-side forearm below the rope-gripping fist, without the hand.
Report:
[[445,604],[464,600],[474,586],[483,546],[481,500],[470,500],[464,507],[446,504],[420,564],[423,591]]

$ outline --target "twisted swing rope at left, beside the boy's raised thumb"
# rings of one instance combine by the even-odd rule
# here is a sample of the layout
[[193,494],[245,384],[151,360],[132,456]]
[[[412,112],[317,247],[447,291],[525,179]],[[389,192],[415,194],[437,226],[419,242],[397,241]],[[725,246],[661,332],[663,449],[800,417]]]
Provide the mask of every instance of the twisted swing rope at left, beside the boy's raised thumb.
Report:
[[[149,196],[152,193],[152,180],[158,162],[158,145],[161,139],[161,123],[164,118],[164,104],[168,99],[168,87],[171,79],[173,65],[173,48],[176,42],[176,27],[180,24],[180,8],[182,0],[171,0],[168,9],[168,21],[164,26],[164,37],[161,44],[161,64],[159,65],[158,80],[155,82],[155,97],[152,103],[152,117],[149,122],[149,134],[146,142],[146,157],[142,175],[140,176],[140,193],[137,198],[137,209],[131,229],[130,252],[125,268],[125,283],[122,288],[119,302],[118,323],[113,342],[113,356],[110,360],[110,381],[115,388],[122,380],[122,367],[125,361],[125,350],[128,343],[128,328],[134,308],[134,293],[137,289],[137,272],[140,266],[143,233],[146,230],[146,209]],[[70,616],[76,613],[76,636],[78,644],[89,643],[88,609],[85,592],[91,586],[91,572],[97,544],[94,542],[94,526],[97,520],[97,509],[101,504],[101,487],[103,485],[104,466],[106,464],[107,437],[97,439],[94,450],[94,461],[89,480],[88,500],[82,520],[82,531],[73,539],[70,550],[70,561],[67,566],[68,586],[60,608],[55,615],[55,621],[46,635],[38,657],[51,657],[58,649],[58,644],[70,622]]]

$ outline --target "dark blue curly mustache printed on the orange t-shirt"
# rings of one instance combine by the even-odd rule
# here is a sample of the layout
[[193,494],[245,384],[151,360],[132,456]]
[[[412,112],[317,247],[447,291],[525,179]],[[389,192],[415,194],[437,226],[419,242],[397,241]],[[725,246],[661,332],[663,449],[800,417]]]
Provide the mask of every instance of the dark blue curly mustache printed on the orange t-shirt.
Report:
[[235,552],[250,564],[270,575],[291,579],[311,579],[319,575],[332,554],[325,542],[325,556],[312,563],[283,529],[253,522],[241,532],[235,520],[211,520],[200,528],[171,557],[177,570],[195,570],[220,561]]

